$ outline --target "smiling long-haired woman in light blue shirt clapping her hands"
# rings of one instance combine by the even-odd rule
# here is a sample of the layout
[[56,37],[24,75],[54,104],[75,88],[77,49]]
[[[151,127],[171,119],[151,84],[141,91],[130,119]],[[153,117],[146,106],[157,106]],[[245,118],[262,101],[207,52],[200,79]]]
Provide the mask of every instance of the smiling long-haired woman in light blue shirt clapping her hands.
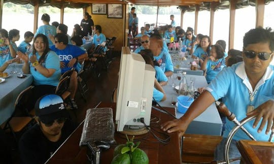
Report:
[[33,52],[29,56],[20,51],[17,54],[24,61],[23,73],[31,73],[33,76],[33,85],[51,85],[50,88],[54,90],[61,76],[60,60],[58,55],[49,49],[45,35],[38,34],[33,39]]

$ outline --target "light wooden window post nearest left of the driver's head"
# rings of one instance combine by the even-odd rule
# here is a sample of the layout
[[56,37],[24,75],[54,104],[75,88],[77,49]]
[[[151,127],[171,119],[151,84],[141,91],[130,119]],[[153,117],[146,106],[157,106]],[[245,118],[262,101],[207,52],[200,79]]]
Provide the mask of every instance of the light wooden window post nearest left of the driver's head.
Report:
[[237,0],[230,1],[230,17],[229,17],[229,39],[228,49],[234,48],[234,33],[235,33],[235,11],[236,11]]

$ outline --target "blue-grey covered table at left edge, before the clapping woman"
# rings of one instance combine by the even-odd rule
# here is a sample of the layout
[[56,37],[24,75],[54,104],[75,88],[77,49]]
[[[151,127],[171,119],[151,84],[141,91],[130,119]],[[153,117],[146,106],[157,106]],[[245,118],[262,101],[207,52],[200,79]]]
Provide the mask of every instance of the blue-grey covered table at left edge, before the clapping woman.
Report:
[[31,74],[26,74],[24,78],[19,77],[22,74],[22,65],[23,63],[12,63],[4,71],[8,73],[8,77],[0,82],[0,124],[11,117],[17,96],[32,83]]

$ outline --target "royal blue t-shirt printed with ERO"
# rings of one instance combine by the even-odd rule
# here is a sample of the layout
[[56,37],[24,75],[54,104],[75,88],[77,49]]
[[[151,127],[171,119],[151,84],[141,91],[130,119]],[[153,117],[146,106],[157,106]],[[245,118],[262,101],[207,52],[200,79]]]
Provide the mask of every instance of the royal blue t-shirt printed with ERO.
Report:
[[[70,44],[66,45],[65,49],[62,50],[57,49],[54,45],[51,46],[50,49],[59,56],[60,61],[63,61],[65,63],[65,67],[61,69],[62,74],[72,69],[67,67],[68,62],[70,62],[73,58],[86,53],[86,51],[82,50],[81,48]],[[78,62],[74,64],[74,68],[76,68],[77,63]]]

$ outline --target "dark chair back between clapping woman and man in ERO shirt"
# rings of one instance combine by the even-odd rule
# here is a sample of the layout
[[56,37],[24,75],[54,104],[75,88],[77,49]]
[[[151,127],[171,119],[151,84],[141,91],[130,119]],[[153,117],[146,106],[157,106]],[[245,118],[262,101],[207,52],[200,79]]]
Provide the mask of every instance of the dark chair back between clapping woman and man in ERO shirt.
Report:
[[70,85],[70,77],[69,76],[61,77],[56,87],[55,94],[60,95],[63,100],[67,99],[67,97],[71,95],[71,92],[68,91],[69,85]]

